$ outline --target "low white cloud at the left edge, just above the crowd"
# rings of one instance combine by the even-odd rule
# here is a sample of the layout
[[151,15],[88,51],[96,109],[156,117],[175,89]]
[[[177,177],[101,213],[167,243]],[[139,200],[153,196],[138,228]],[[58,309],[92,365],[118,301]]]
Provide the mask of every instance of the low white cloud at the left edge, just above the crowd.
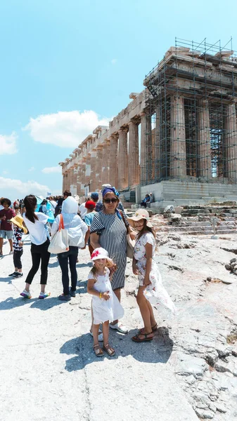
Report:
[[37,194],[45,196],[51,189],[48,186],[41,185],[37,181],[20,181],[12,178],[0,177],[1,196],[9,197],[11,200],[21,199],[27,194]]

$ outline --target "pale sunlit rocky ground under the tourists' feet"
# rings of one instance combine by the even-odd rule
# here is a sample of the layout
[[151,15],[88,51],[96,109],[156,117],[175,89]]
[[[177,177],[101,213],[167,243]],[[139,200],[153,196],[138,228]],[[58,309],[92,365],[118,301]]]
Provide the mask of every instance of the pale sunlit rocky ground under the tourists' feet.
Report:
[[[237,258],[237,234],[158,234],[156,260],[178,314],[155,309],[153,342],[132,342],[142,326],[136,276],[127,265],[122,294],[128,335],[112,331],[113,358],[96,358],[89,335],[86,292],[89,253],[79,255],[76,298],[60,302],[60,268],[49,263],[51,297],[19,296],[23,279],[11,280],[12,256],[0,260],[0,420],[194,421],[237,419],[236,280],[225,265]],[[8,252],[8,245],[4,246]],[[30,268],[25,243],[24,273]]]

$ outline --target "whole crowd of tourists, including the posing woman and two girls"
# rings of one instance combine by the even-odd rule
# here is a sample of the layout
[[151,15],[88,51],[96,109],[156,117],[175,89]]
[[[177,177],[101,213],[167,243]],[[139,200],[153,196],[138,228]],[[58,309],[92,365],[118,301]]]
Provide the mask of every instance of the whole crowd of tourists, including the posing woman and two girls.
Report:
[[[50,295],[46,290],[50,250],[53,250],[59,237],[63,239],[63,232],[66,232],[67,247],[60,248],[57,258],[63,284],[63,293],[58,299],[67,302],[76,296],[79,249],[88,246],[93,262],[87,292],[91,295],[90,333],[94,338],[94,352],[96,356],[102,356],[104,352],[113,356],[115,349],[108,340],[109,329],[124,334],[128,332],[120,321],[124,315],[121,290],[125,283],[128,248],[131,251],[132,247],[132,270],[139,282],[136,301],[143,319],[143,328],[132,340],[153,340],[158,328],[153,313],[154,304],[164,305],[172,312],[175,312],[175,307],[162,285],[154,260],[155,231],[147,210],[140,208],[131,218],[127,218],[115,187],[103,185],[101,193],[102,200],[99,200],[97,192],[93,192],[81,205],[68,190],[58,198],[41,199],[30,194],[23,202],[15,201],[13,206],[9,199],[2,198],[0,256],[4,257],[3,243],[7,239],[14,265],[14,271],[9,276],[13,279],[23,277],[23,243],[27,237],[30,238],[32,267],[20,295],[26,299],[32,298],[30,286],[40,265],[39,299],[45,299]],[[100,341],[103,341],[103,347],[99,345]]]

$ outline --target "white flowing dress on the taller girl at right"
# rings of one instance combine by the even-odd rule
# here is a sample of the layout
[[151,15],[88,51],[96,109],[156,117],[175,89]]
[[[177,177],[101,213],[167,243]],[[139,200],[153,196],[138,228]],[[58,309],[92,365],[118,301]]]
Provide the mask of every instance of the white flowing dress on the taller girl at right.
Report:
[[172,313],[176,313],[177,309],[162,284],[162,278],[158,265],[153,259],[155,255],[155,238],[151,232],[146,232],[146,234],[143,234],[140,239],[136,239],[136,244],[134,246],[134,258],[137,260],[136,267],[139,270],[139,286],[144,285],[143,281],[146,274],[146,243],[153,246],[153,254],[149,275],[151,283],[145,288],[143,294],[150,304],[163,305],[170,309]]

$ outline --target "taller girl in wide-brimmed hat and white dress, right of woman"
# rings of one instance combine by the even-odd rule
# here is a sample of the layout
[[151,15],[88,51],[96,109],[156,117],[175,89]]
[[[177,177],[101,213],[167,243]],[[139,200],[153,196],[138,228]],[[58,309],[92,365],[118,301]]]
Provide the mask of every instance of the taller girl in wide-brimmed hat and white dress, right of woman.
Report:
[[149,222],[149,214],[145,209],[136,210],[134,217],[127,218],[139,233],[136,235],[132,269],[139,277],[139,292],[136,302],[139,305],[144,327],[139,330],[132,340],[145,342],[153,340],[154,332],[158,325],[150,303],[164,305],[173,313],[176,312],[174,304],[162,286],[162,279],[153,256],[155,254],[155,232]]

